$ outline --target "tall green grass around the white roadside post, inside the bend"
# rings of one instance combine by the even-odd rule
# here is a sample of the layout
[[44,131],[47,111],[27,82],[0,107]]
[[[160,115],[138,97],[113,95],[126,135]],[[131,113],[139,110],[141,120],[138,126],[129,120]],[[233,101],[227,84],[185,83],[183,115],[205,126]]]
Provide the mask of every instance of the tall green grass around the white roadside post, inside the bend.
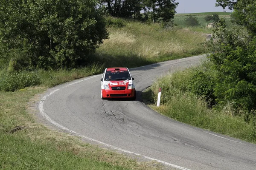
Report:
[[[205,66],[197,69],[207,72]],[[253,121],[245,122],[243,116],[234,116],[231,105],[210,109],[203,98],[188,91],[194,71],[195,68],[189,68],[157,79],[143,92],[144,101],[155,111],[177,121],[256,143]],[[159,87],[162,87],[161,105],[156,107]]]

